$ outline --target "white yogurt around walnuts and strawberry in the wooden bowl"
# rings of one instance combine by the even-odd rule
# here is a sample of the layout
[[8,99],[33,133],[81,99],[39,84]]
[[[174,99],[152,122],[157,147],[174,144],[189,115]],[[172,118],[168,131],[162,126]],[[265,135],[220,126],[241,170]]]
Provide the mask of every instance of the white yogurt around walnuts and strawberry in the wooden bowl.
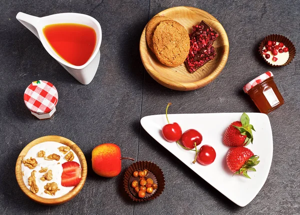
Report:
[[[38,192],[36,193],[36,195],[43,197],[43,198],[58,198],[66,193],[68,193],[71,189],[73,189],[74,187],[65,187],[65,186],[61,186],[61,173],[62,173],[62,163],[67,162],[66,159],[64,159],[64,156],[67,154],[63,154],[62,152],[60,152],[58,150],[58,147],[60,146],[65,146],[62,143],[58,143],[58,142],[53,142],[53,141],[48,141],[48,142],[42,142],[39,143],[35,146],[33,146],[32,148],[29,149],[29,151],[27,152],[26,156],[23,159],[28,159],[30,157],[34,158],[37,162],[37,166],[34,169],[29,169],[28,167],[26,167],[23,163],[21,164],[21,168],[22,168],[22,172],[23,172],[23,181],[26,185],[26,187],[30,190],[30,186],[28,185],[28,177],[31,175],[31,172],[33,170],[35,170],[35,182],[36,185],[38,186]],[[56,160],[45,160],[43,157],[37,157],[37,152],[39,152],[40,150],[43,150],[45,152],[45,156],[48,156],[50,154],[58,154],[60,156],[60,159],[58,161]],[[73,152],[74,154],[74,159],[73,161],[79,163],[79,159],[77,157],[77,155],[75,154],[75,152],[70,149],[71,152]],[[59,164],[57,164],[59,163]],[[52,180],[45,180],[42,181],[40,180],[40,177],[45,174],[45,172],[38,172],[41,168],[44,167],[48,167],[48,170],[52,170]],[[81,166],[80,166],[81,167]],[[47,170],[47,171],[48,171]],[[51,182],[55,182],[57,183],[58,186],[58,190],[55,195],[49,195],[47,193],[44,192],[44,186],[47,183],[51,183]]]

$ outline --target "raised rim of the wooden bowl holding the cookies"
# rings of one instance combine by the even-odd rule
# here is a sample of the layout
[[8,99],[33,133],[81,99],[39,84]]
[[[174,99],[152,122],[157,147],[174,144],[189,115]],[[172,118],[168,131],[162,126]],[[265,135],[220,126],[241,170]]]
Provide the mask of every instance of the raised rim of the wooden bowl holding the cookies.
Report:
[[[204,87],[205,85],[209,84],[211,81],[213,81],[219,75],[219,73],[225,67],[227,59],[228,59],[229,41],[228,41],[228,37],[227,37],[227,34],[226,34],[223,26],[218,22],[218,20],[215,17],[213,17],[212,15],[210,15],[209,13],[207,13],[206,11],[203,11],[201,9],[188,7],[188,6],[179,6],[179,7],[173,7],[173,8],[168,8],[166,10],[163,10],[163,11],[159,12],[158,14],[156,14],[155,16],[160,16],[161,14],[169,13],[170,11],[178,10],[178,9],[181,9],[181,8],[184,9],[184,10],[188,9],[188,10],[191,10],[191,11],[196,11],[198,13],[206,14],[207,16],[212,18],[212,21],[218,23],[219,28],[221,28],[222,31],[224,32],[220,37],[220,38],[222,38],[222,41],[224,43],[224,45],[223,45],[224,52],[221,53],[221,58],[219,59],[217,67],[208,76],[204,77],[203,79],[195,80],[193,82],[175,82],[175,81],[171,81],[169,79],[166,79],[166,78],[160,76],[159,74],[157,74],[156,70],[152,66],[151,66],[151,68],[148,68],[147,65],[145,64],[147,62],[148,64],[152,65],[146,59],[146,56],[148,56],[148,54],[146,54],[146,56],[142,55],[142,50],[144,50],[144,49],[147,50],[147,44],[146,44],[146,40],[145,40],[145,31],[146,31],[147,25],[144,27],[144,29],[142,31],[142,34],[141,34],[141,37],[140,37],[140,40],[139,40],[139,53],[140,53],[140,58],[141,58],[141,61],[142,61],[142,64],[143,64],[144,68],[146,69],[147,73],[155,81],[157,81],[159,84],[161,84],[161,85],[163,85],[167,88],[173,89],[173,90],[189,91],[189,90],[196,90],[198,88]],[[146,47],[142,46],[142,43],[146,44]],[[221,63],[221,62],[223,62],[223,63]],[[188,71],[186,70],[186,72],[188,72]]]

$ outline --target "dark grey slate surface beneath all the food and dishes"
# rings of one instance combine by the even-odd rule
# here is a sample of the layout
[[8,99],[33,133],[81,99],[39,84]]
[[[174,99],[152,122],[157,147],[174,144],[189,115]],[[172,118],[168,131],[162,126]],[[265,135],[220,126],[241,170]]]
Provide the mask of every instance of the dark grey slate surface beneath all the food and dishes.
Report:
[[[221,74],[209,85],[178,92],[156,83],[144,70],[138,51],[141,32],[158,12],[175,6],[207,11],[224,27],[230,53]],[[101,59],[93,81],[81,85],[22,26],[18,12],[43,17],[75,12],[101,25]],[[256,54],[269,34],[288,37],[300,50],[300,6],[297,1],[0,1],[0,211],[4,214],[299,214],[299,57],[288,66],[270,68]],[[252,78],[270,70],[285,104],[270,113],[273,160],[268,178],[245,207],[239,207],[187,169],[139,125],[141,117],[164,113],[258,112],[242,92]],[[59,94],[51,120],[39,121],[25,108],[23,92],[34,80],[47,80]],[[30,141],[60,135],[74,141],[88,162],[80,193],[59,206],[28,199],[14,175],[16,158]],[[122,173],[106,179],[90,166],[94,146],[114,142],[122,155],[150,160],[164,172],[166,187],[152,201],[133,203],[122,188]],[[224,181],[225,184],[225,181]],[[234,190],[232,190],[234,191]],[[246,194],[246,193],[245,193]]]

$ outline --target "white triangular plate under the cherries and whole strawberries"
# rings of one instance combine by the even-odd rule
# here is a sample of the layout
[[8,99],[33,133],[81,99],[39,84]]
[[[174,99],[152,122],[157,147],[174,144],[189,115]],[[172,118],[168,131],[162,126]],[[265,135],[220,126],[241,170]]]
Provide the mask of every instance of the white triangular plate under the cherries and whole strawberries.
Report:
[[222,136],[227,126],[240,120],[242,113],[200,113],[200,114],[168,114],[170,123],[177,122],[182,132],[193,128],[199,131],[203,140],[201,145],[211,145],[216,158],[210,165],[192,164],[194,151],[187,151],[175,142],[164,140],[161,128],[167,124],[165,115],[145,116],[140,120],[142,127],[164,148],[175,155],[191,170],[197,173],[210,185],[239,206],[247,205],[263,186],[270,170],[273,154],[273,139],[270,121],[262,113],[247,113],[256,130],[253,132],[253,144],[247,148],[259,156],[260,163],[255,166],[256,172],[249,171],[248,179],[242,175],[233,175],[226,165],[226,154],[229,147],[222,143]]

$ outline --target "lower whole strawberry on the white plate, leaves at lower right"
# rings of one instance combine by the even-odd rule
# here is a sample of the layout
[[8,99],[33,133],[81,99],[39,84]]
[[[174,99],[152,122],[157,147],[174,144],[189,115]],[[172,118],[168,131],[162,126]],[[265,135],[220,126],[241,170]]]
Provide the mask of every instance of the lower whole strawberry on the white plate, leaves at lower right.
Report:
[[259,163],[259,156],[254,155],[253,152],[243,146],[232,147],[229,149],[226,157],[227,166],[234,174],[243,174],[250,178],[247,170],[256,171],[253,166]]

